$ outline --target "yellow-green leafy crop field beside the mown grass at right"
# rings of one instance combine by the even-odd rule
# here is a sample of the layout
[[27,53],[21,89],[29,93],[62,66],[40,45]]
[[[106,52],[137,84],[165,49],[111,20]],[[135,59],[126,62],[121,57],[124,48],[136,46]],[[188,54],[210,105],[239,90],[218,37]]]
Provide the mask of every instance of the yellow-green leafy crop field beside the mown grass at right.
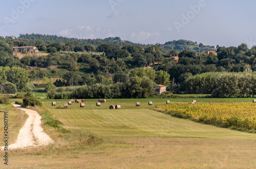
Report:
[[247,131],[256,130],[255,103],[165,104],[156,105],[156,110],[197,122]]

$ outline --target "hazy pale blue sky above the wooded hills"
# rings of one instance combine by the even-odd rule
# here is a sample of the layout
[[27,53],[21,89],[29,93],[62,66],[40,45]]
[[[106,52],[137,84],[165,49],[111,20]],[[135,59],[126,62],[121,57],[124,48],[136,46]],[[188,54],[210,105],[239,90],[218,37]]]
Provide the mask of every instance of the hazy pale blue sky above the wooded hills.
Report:
[[186,39],[204,45],[256,45],[256,1],[12,0],[0,7],[0,36],[48,34],[120,37],[154,44]]

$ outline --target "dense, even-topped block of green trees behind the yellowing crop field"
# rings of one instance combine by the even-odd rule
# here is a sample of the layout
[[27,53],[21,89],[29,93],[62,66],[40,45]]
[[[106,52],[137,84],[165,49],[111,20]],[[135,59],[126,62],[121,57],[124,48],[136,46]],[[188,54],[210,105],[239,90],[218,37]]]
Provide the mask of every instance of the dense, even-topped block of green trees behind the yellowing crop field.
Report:
[[215,98],[249,98],[256,95],[255,73],[205,73],[186,80],[188,93],[211,94]]

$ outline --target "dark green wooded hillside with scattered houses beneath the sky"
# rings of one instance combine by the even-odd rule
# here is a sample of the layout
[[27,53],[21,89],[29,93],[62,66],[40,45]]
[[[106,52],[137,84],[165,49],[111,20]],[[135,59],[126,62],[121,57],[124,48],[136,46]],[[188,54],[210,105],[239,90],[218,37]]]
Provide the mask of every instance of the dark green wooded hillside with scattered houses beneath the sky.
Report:
[[[41,39],[40,39],[41,38]],[[141,86],[142,79],[131,79],[133,77],[147,77],[152,81],[145,84],[151,86],[155,83],[167,86],[167,90],[176,93],[186,91],[186,80],[193,75],[207,72],[240,72],[256,70],[256,47],[248,49],[242,43],[238,47],[219,47],[217,55],[197,53],[188,50],[178,50],[178,45],[188,45],[197,47],[200,50],[207,46],[195,42],[178,40],[165,44],[144,45],[122,41],[120,38],[106,39],[75,39],[58,37],[55,35],[20,35],[19,38],[0,37],[0,66],[21,67],[27,69],[28,66],[50,67],[58,65],[56,69],[40,70],[39,68],[29,72],[30,80],[42,79],[44,77],[58,78],[54,82],[56,87],[61,86],[92,86],[96,83],[101,85],[111,85],[116,83],[127,83],[135,81]],[[18,59],[13,54],[13,46],[33,46],[40,52],[47,51],[48,56],[36,57],[32,53],[25,52],[26,56]],[[173,50],[177,49],[177,50]],[[165,52],[163,52],[165,51]],[[211,50],[213,51],[213,50]],[[179,62],[170,61],[170,56],[179,56]],[[153,62],[162,62],[160,65],[152,65]],[[151,66],[154,68],[153,77],[143,72],[140,67]],[[131,71],[136,69],[136,74]],[[3,68],[4,70],[4,68]],[[162,70],[162,71],[160,71]],[[4,74],[1,74],[1,76]],[[0,78],[0,83],[9,82],[7,78]],[[145,80],[145,79],[144,79]],[[146,81],[147,81],[146,80]],[[172,83],[170,83],[172,82]],[[135,85],[136,86],[136,85]],[[28,84],[24,88],[33,89],[36,86]],[[41,86],[42,87],[42,86]],[[147,88],[144,86],[144,88]],[[151,88],[151,87],[150,87]],[[133,89],[134,90],[134,89]],[[131,92],[133,92],[131,90]],[[153,86],[152,86],[153,90]],[[136,91],[136,89],[135,89]],[[151,90],[150,90],[151,91]],[[189,91],[190,92],[190,91]],[[133,95],[134,94],[131,94]],[[151,94],[140,94],[150,96]]]

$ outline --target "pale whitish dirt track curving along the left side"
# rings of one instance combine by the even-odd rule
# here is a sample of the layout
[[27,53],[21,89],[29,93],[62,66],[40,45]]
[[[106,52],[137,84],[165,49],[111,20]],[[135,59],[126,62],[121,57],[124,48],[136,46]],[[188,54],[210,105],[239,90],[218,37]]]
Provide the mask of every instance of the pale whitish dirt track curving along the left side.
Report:
[[[20,107],[20,105],[15,103],[12,103],[12,105],[25,111],[29,117],[22,129],[19,130],[16,143],[8,146],[9,150],[43,145],[46,146],[54,142],[53,139],[46,134],[44,129],[41,127],[41,116],[36,111]],[[2,150],[4,150],[3,147]]]

